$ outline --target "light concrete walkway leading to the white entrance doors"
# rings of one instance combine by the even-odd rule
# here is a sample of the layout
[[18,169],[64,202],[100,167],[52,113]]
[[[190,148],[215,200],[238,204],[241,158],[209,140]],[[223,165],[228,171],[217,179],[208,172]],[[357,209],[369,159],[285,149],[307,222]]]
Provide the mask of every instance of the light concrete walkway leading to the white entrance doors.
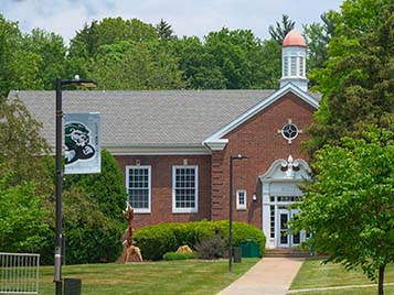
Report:
[[217,295],[286,295],[304,259],[263,258]]

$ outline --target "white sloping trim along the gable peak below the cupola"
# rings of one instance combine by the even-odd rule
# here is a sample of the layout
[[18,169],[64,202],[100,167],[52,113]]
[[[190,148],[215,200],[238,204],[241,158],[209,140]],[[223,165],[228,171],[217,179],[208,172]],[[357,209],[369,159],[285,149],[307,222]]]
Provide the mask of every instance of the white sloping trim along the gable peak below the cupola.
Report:
[[262,102],[257,103],[246,112],[244,112],[242,116],[213,133],[211,136],[209,136],[206,140],[203,141],[204,145],[210,146],[211,143],[220,142],[222,140],[222,136],[227,134],[230,131],[234,130],[278,99],[280,99],[284,95],[288,92],[294,92],[296,96],[300,97],[305,102],[309,103],[313,108],[318,109],[319,108],[319,102],[310,96],[308,92],[302,91],[299,89],[297,86],[292,85],[291,83],[287,84],[285,87],[278,89],[275,91],[273,95],[264,99]]

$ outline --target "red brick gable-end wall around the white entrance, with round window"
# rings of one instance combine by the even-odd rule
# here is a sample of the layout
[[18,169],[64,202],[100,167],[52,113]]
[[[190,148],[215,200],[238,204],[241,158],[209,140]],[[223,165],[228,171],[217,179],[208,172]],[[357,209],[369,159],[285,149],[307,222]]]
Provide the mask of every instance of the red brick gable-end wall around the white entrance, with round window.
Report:
[[[248,160],[236,160],[233,165],[233,218],[262,228],[262,187],[258,176],[266,173],[270,164],[277,159],[294,159],[308,161],[301,152],[301,141],[307,140],[300,133],[291,144],[284,139],[278,130],[292,120],[298,129],[306,129],[310,124],[315,108],[306,103],[294,94],[285,97],[251,118],[227,135],[228,144],[224,151],[213,152],[212,155],[212,219],[228,219],[228,178],[231,155],[246,155]],[[247,190],[247,210],[236,210],[237,189]],[[252,195],[257,194],[257,200]]]

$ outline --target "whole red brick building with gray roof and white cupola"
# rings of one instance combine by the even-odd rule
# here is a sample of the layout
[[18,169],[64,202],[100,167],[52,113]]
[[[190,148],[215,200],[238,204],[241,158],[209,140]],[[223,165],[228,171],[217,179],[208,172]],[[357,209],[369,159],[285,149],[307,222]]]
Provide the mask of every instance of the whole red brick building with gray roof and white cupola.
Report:
[[[54,146],[54,92],[12,91],[43,123]],[[64,112],[100,112],[102,145],[125,174],[137,228],[228,219],[230,157],[234,220],[260,228],[267,247],[292,247],[285,234],[298,184],[308,178],[302,130],[320,97],[307,91],[306,44],[291,31],[276,90],[63,91]]]

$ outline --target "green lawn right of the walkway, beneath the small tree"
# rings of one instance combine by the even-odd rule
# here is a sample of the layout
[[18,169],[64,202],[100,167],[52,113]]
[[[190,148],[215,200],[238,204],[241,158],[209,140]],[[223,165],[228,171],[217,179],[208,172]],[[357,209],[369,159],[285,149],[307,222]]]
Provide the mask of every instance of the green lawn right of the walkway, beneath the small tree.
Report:
[[[385,283],[394,283],[394,264],[386,269]],[[340,264],[321,264],[321,260],[308,259],[304,262],[296,278],[292,281],[290,289],[315,288],[315,287],[331,287],[331,286],[348,286],[348,285],[364,285],[372,284],[361,270],[347,271]],[[394,286],[385,286],[386,295],[394,295]],[[336,289],[321,292],[305,292],[297,294],[310,295],[339,295],[339,294],[376,294],[376,287],[352,288],[352,289]]]

